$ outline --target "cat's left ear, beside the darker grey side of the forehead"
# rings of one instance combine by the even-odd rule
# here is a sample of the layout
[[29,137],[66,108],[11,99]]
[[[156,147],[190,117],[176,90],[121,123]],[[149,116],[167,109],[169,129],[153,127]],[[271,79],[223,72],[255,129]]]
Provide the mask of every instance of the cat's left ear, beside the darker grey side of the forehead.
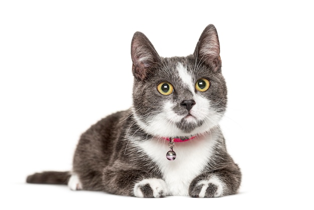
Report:
[[135,32],[131,43],[133,75],[143,80],[149,71],[158,63],[160,57],[155,48],[142,32]]

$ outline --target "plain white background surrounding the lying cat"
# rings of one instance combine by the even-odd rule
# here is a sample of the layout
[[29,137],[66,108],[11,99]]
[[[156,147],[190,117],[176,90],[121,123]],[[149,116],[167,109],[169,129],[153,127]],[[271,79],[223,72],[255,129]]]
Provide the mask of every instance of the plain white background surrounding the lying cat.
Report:
[[[1,1],[0,208],[313,209],[313,6],[217,2]],[[143,199],[25,183],[69,170],[80,134],[130,107],[135,31],[160,55],[185,56],[210,23],[229,90],[221,127],[243,172],[238,194]]]

